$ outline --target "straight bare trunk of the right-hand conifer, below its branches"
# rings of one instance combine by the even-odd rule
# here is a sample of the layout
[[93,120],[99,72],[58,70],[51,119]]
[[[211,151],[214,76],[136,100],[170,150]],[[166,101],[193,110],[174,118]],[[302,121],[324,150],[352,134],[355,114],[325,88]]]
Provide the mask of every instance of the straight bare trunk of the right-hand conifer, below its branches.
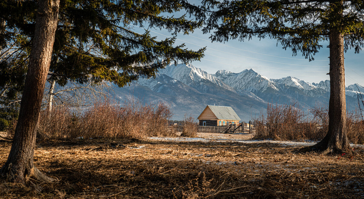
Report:
[[303,150],[342,153],[350,148],[346,132],[344,35],[330,31],[329,129],[323,140]]

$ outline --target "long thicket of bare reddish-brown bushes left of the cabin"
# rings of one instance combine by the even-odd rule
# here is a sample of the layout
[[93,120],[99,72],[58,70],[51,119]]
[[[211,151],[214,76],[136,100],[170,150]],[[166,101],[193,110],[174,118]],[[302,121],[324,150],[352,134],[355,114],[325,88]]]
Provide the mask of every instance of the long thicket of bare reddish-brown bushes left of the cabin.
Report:
[[42,111],[38,132],[45,138],[143,138],[175,136],[167,127],[172,113],[165,104],[144,105],[130,100],[120,105],[106,99],[84,111],[56,107],[50,115]]

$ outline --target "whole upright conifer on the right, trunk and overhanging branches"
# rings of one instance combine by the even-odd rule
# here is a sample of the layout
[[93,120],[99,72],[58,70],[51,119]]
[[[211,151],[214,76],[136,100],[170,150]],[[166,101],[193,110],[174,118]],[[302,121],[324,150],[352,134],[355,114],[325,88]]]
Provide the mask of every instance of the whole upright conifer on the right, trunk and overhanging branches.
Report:
[[[358,0],[203,0],[208,14],[204,33],[212,41],[253,37],[280,42],[305,58],[330,49],[329,129],[325,138],[305,150],[341,153],[350,145],[346,133],[344,51],[359,53],[364,45],[364,3]],[[201,17],[203,18],[203,17]]]

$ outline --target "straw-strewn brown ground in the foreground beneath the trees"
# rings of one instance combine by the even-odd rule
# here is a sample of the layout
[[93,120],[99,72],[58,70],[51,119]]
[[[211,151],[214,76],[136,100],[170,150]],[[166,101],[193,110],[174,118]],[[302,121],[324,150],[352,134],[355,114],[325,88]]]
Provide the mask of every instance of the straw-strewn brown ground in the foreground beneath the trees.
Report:
[[[41,142],[35,165],[58,179],[32,188],[0,183],[2,198],[363,198],[362,146],[356,156],[293,152],[304,142],[250,135],[141,141]],[[0,165],[10,150],[0,142]]]

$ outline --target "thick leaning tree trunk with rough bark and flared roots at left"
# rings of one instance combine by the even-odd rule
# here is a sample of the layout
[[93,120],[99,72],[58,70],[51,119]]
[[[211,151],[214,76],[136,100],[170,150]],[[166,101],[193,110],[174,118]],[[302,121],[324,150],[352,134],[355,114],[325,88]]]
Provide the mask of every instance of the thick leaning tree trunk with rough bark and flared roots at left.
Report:
[[37,124],[44,86],[50,67],[59,0],[39,0],[32,51],[29,56],[27,78],[21,98],[19,119],[16,125],[9,157],[0,173],[9,181],[25,183],[28,178],[51,182],[52,178],[40,173],[33,164]]

